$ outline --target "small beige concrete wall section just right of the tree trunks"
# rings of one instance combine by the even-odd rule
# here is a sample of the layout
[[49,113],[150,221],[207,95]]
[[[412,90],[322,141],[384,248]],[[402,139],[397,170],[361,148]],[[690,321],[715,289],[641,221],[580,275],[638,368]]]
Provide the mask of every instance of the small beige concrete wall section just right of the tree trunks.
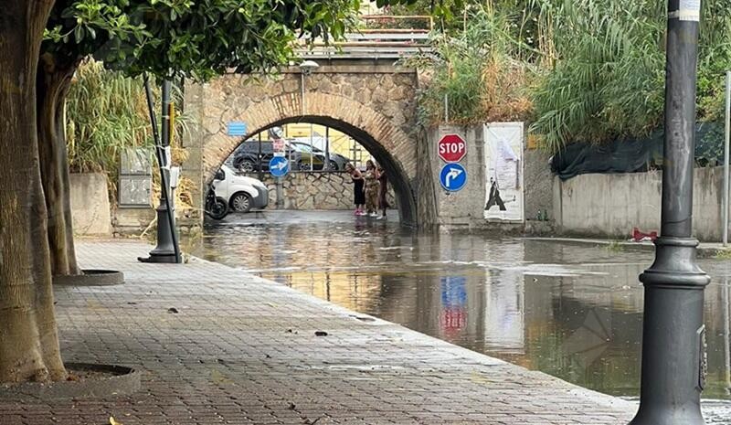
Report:
[[74,233],[93,236],[111,235],[107,176],[72,174],[70,185]]

